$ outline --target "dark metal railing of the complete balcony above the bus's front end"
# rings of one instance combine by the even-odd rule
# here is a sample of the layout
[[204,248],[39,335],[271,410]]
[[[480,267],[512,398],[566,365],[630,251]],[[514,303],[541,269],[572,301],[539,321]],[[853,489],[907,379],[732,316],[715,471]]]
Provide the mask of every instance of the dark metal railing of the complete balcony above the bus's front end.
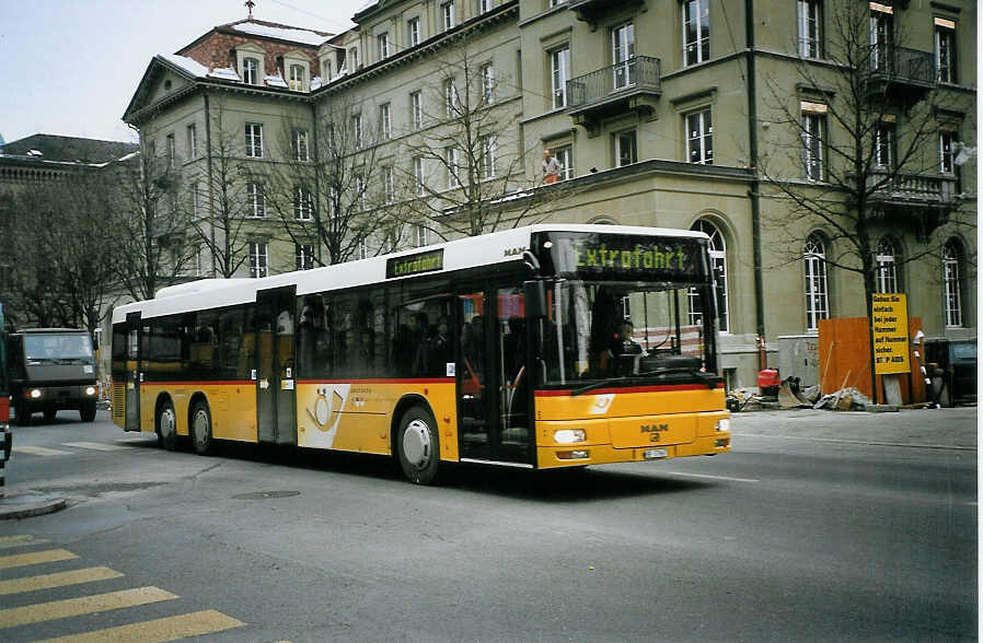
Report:
[[606,103],[638,92],[662,92],[661,61],[658,58],[636,56],[568,80],[567,107]]

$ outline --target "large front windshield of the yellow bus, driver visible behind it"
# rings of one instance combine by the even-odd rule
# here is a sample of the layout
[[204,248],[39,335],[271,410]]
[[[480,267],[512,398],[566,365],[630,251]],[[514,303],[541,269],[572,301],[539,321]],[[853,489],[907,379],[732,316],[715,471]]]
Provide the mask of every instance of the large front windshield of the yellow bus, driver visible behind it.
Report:
[[560,279],[547,288],[541,386],[716,384],[709,284]]

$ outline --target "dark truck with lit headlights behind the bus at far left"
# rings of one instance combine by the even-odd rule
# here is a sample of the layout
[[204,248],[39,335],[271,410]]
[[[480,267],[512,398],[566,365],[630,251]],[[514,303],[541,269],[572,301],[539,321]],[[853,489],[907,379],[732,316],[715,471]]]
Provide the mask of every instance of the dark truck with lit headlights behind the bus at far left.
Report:
[[45,421],[76,410],[83,422],[95,419],[99,386],[95,353],[84,330],[35,328],[12,332],[7,341],[11,406],[21,425],[36,412]]

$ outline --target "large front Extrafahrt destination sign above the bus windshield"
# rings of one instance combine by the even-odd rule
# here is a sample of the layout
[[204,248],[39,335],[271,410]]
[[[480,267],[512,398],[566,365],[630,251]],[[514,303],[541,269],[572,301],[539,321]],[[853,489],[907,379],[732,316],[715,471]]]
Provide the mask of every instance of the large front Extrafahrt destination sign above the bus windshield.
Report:
[[613,279],[704,281],[703,245],[686,237],[633,235],[552,235],[557,273]]

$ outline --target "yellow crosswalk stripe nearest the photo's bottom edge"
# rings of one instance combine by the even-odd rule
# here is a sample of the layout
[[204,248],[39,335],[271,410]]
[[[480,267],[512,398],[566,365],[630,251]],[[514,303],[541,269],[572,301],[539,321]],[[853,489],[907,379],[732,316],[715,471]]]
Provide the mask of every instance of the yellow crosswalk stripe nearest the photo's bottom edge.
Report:
[[118,628],[108,628],[95,632],[84,632],[69,636],[48,639],[44,643],[96,643],[113,641],[113,643],[164,643],[177,641],[188,636],[200,636],[221,632],[233,628],[241,628],[244,622],[228,617],[220,611],[209,609],[196,611],[176,617],[153,619]]

